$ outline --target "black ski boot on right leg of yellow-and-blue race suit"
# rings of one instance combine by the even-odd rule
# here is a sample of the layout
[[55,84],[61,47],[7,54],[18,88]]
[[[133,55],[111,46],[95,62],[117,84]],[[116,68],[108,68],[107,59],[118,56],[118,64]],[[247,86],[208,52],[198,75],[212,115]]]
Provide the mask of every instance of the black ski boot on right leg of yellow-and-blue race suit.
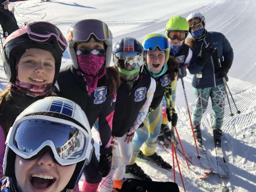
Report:
[[172,169],[172,166],[169,163],[165,162],[160,155],[156,154],[156,152],[153,155],[147,156],[147,155],[144,155],[142,153],[142,151],[140,151],[139,154],[138,154],[138,157],[142,158],[144,160],[151,161],[154,164],[156,164],[157,166],[160,166],[161,168],[164,168],[164,169],[167,169],[167,170]]

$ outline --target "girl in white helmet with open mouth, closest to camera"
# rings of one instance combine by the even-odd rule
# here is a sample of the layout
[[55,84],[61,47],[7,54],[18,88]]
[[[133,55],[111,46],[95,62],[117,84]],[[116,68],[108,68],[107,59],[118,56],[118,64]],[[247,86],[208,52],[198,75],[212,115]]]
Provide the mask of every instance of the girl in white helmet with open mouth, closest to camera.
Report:
[[86,115],[75,102],[61,97],[36,101],[16,118],[8,133],[3,163],[8,177],[2,180],[1,190],[73,189],[90,162],[92,141]]

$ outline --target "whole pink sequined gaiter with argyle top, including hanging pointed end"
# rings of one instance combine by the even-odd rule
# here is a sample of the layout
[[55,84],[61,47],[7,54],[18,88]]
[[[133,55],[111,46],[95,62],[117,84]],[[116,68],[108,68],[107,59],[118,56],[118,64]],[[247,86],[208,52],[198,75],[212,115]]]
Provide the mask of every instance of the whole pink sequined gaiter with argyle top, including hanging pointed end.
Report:
[[104,49],[79,49],[77,62],[80,70],[77,73],[85,77],[88,95],[97,88],[98,79],[106,74],[104,63],[106,52]]

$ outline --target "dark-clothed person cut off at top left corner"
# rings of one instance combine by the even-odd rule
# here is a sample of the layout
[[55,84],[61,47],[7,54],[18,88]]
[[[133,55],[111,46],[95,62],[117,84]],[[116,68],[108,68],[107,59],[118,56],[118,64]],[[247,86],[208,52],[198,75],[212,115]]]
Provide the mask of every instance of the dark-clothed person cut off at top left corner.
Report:
[[0,24],[3,29],[3,37],[5,39],[19,28],[14,16],[14,7],[9,11],[8,5],[9,1],[0,0]]

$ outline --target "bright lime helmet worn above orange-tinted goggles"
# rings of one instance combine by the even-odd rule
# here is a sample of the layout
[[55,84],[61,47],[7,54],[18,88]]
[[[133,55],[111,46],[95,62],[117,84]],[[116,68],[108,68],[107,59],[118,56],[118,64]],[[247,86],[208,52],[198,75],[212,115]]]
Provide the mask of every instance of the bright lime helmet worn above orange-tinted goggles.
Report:
[[170,18],[165,27],[167,37],[170,31],[184,31],[187,37],[187,34],[189,32],[189,24],[187,22],[187,19],[181,16],[175,16]]

